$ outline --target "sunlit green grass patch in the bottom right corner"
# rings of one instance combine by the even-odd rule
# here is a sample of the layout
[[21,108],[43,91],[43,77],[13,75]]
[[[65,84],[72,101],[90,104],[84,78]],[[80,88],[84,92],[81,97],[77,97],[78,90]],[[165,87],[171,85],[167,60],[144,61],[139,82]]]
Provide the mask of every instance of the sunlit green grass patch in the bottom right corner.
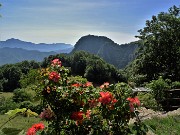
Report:
[[180,134],[180,114],[168,116],[166,118],[153,118],[145,120],[156,135],[179,135]]

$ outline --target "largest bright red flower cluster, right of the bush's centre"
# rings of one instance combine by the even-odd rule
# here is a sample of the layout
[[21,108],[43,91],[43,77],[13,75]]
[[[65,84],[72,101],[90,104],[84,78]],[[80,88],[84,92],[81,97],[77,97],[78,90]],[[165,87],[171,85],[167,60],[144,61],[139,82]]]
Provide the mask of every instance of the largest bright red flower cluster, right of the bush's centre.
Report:
[[102,104],[114,104],[117,102],[117,99],[115,99],[110,92],[100,92],[101,97],[99,98],[99,102]]

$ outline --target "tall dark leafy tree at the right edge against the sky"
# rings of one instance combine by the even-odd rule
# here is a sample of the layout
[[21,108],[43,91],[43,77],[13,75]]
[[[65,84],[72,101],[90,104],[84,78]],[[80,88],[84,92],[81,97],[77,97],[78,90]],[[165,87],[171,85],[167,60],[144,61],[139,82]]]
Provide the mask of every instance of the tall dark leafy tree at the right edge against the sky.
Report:
[[180,8],[173,6],[146,21],[138,31],[142,45],[133,72],[146,76],[146,81],[158,76],[180,80]]

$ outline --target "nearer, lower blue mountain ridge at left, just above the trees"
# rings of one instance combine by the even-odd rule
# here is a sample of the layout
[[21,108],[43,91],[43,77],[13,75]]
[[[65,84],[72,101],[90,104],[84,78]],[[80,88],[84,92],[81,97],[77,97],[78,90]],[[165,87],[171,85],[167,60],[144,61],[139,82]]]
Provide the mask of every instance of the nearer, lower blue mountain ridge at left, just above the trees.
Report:
[[24,60],[42,61],[55,52],[39,52],[36,50],[25,50],[21,48],[0,48],[0,65],[13,64]]

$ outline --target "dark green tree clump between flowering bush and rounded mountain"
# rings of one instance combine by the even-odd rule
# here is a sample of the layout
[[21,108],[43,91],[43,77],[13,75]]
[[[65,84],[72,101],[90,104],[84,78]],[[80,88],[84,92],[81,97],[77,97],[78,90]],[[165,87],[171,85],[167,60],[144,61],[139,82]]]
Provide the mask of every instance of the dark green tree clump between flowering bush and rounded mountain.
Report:
[[42,62],[43,67],[47,67],[51,60],[59,58],[65,63],[65,67],[69,69],[72,75],[79,75],[87,78],[88,81],[96,84],[103,82],[126,82],[126,78],[122,71],[113,65],[106,63],[100,57],[85,51],[76,51],[71,55],[51,55]]

